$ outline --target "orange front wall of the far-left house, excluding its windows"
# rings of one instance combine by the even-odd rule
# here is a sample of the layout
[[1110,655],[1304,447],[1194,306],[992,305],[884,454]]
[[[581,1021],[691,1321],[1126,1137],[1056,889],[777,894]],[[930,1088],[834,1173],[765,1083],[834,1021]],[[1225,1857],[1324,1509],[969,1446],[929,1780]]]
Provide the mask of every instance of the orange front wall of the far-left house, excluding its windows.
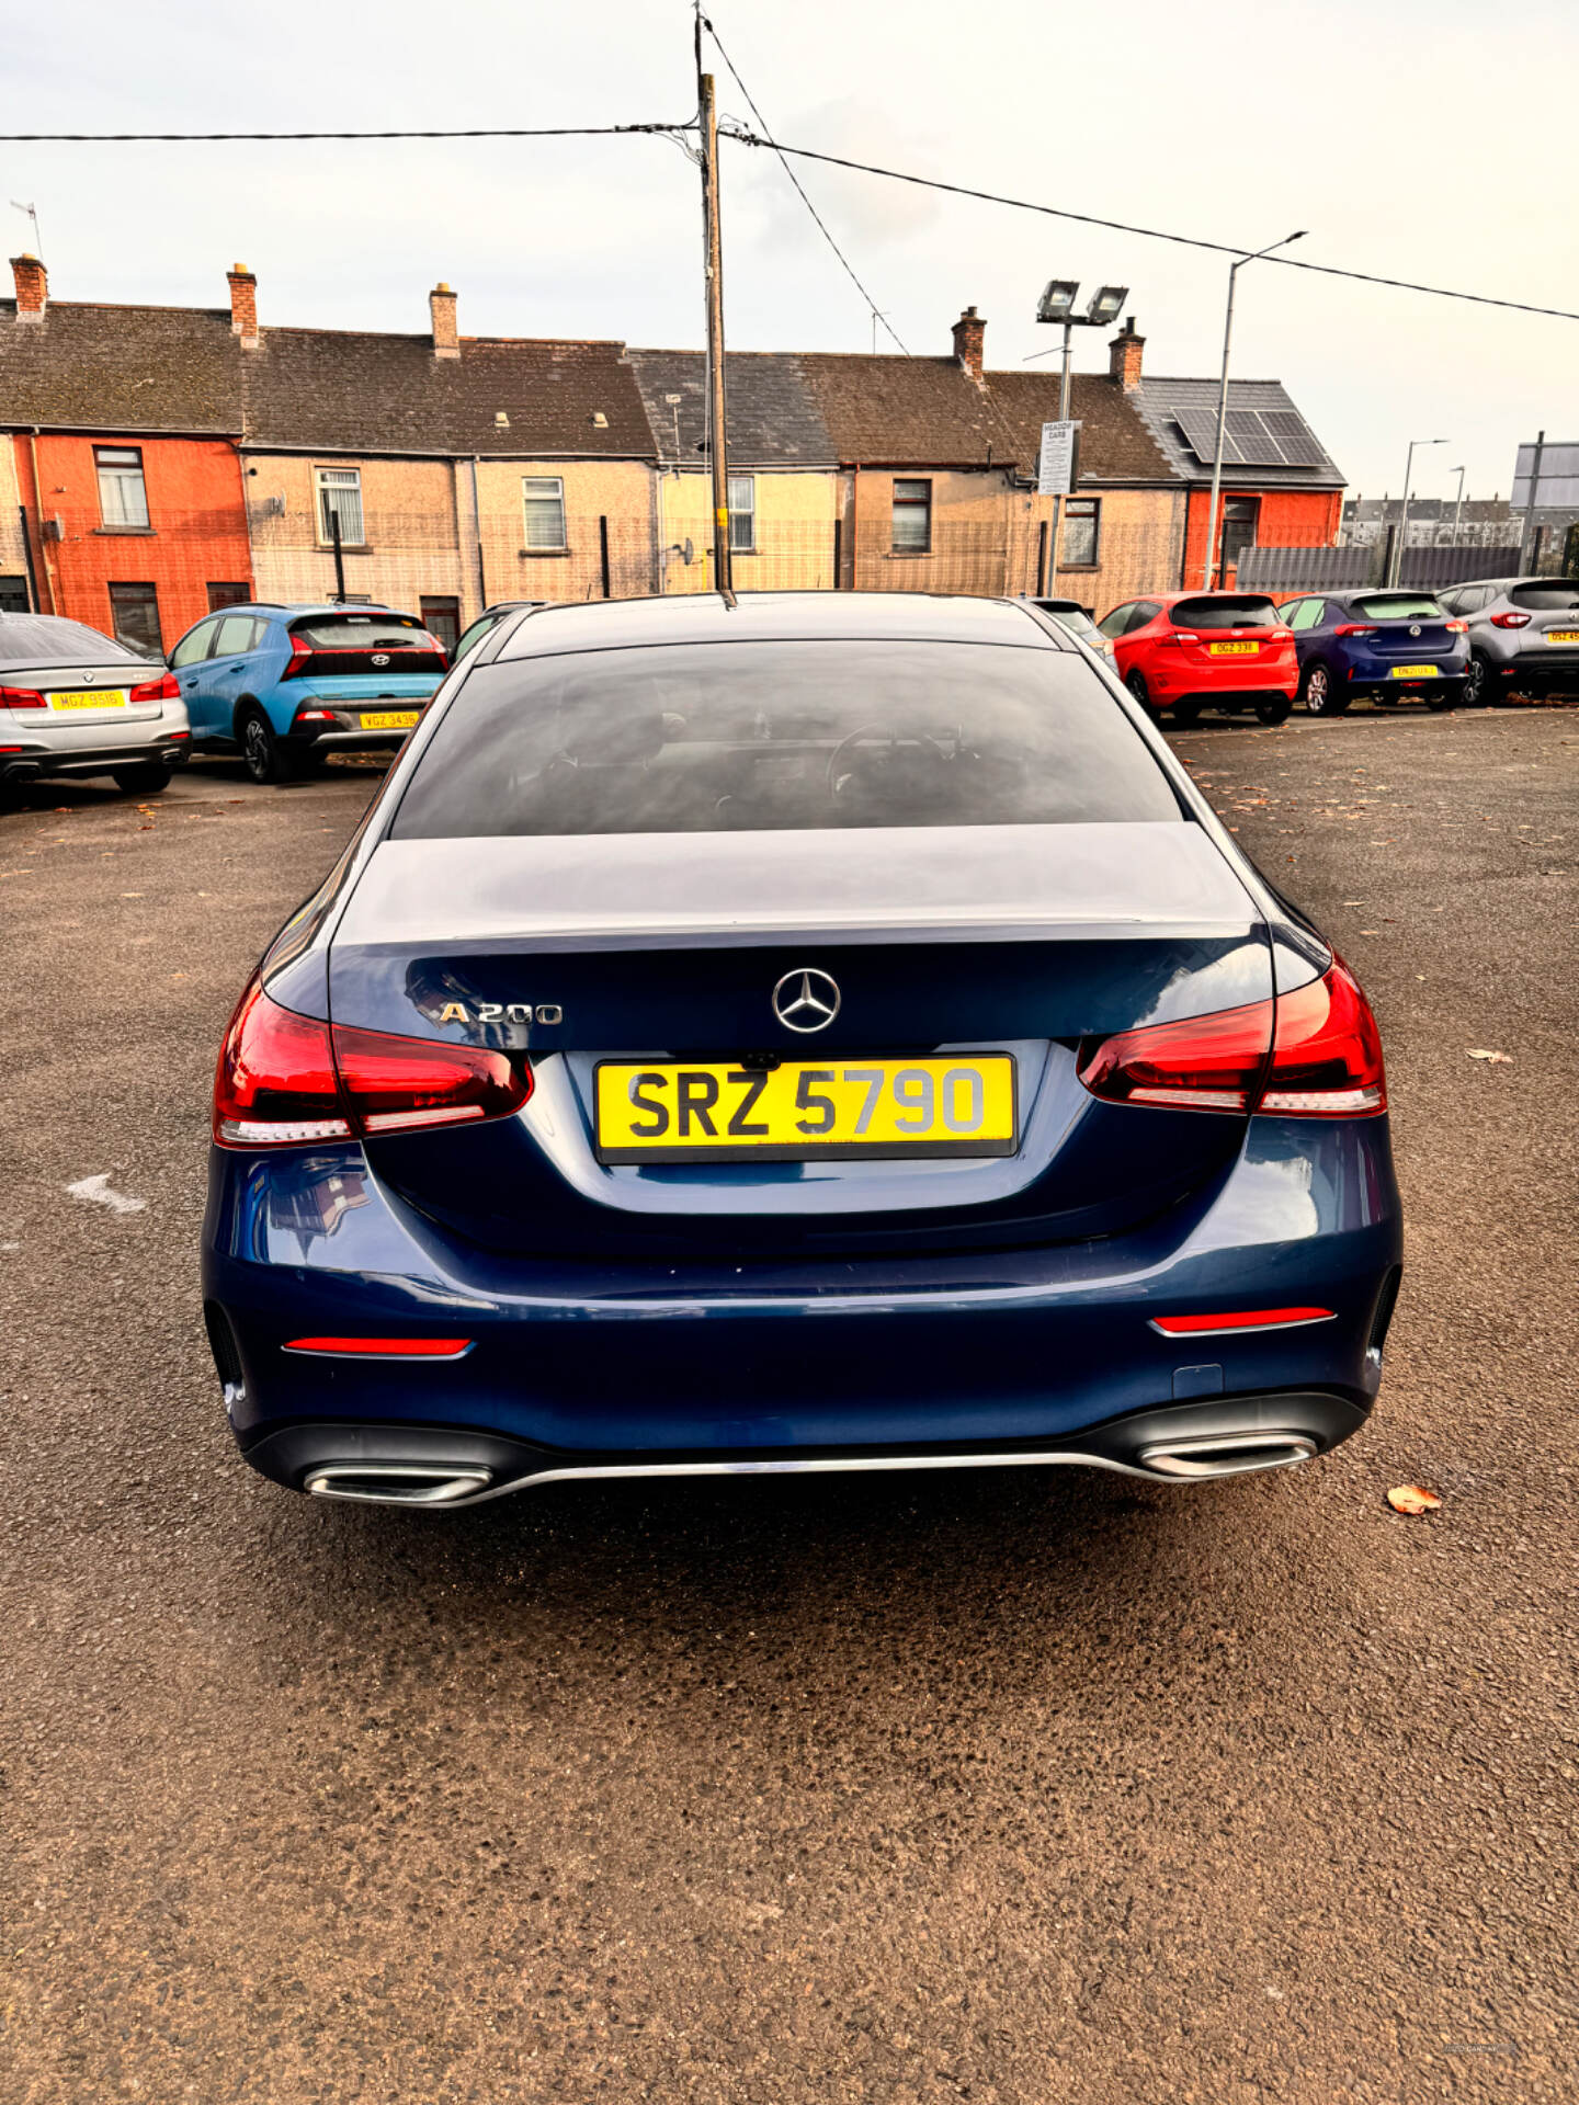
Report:
[[[145,533],[109,533],[99,507],[95,446],[137,446],[147,490]],[[34,490],[29,440],[11,453],[21,501],[34,524],[59,518],[61,539],[34,543],[40,600],[88,627],[112,634],[109,585],[149,583],[158,592],[164,646],[208,613],[208,585],[251,583],[246,514],[236,448],[215,438],[139,438],[103,432],[88,438],[38,438]],[[46,581],[48,579],[48,581]]]

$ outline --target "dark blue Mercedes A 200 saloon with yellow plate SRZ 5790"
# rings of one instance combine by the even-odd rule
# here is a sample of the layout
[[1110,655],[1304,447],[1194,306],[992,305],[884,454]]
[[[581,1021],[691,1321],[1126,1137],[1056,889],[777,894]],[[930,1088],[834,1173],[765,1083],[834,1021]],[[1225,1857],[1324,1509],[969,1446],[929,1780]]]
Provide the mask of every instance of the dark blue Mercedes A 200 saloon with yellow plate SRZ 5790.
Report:
[[246,985],[208,1337],[320,1499],[1322,1455],[1377,1025],[1034,604],[524,608]]

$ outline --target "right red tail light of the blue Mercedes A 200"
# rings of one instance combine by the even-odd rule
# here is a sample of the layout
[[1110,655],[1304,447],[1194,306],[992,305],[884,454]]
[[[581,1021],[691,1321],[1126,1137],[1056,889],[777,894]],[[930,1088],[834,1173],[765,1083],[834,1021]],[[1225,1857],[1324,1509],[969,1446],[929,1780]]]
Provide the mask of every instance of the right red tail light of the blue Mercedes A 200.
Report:
[[1324,979],[1274,1002],[1086,1038],[1078,1071],[1093,1097],[1181,1111],[1375,1118],[1387,1109],[1381,1036],[1335,960]]

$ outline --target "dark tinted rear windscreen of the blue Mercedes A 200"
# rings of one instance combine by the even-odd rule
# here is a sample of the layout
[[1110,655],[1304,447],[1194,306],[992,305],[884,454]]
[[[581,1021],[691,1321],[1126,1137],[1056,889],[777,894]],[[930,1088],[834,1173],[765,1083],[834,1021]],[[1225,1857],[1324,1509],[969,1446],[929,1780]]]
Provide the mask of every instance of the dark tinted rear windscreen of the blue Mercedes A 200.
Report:
[[476,667],[423,747],[389,834],[1179,817],[1145,741],[1074,653],[741,642]]

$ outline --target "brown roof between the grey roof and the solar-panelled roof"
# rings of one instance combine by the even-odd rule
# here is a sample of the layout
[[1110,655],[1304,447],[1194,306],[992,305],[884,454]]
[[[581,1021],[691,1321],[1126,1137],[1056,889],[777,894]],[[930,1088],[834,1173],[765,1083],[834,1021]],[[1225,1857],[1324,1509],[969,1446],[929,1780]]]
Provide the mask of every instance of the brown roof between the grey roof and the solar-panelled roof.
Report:
[[[802,360],[842,463],[1036,472],[1042,425],[1059,415],[1057,373],[994,373],[979,385],[954,358],[817,352]],[[1173,482],[1168,461],[1122,387],[1076,373],[1082,482]]]

